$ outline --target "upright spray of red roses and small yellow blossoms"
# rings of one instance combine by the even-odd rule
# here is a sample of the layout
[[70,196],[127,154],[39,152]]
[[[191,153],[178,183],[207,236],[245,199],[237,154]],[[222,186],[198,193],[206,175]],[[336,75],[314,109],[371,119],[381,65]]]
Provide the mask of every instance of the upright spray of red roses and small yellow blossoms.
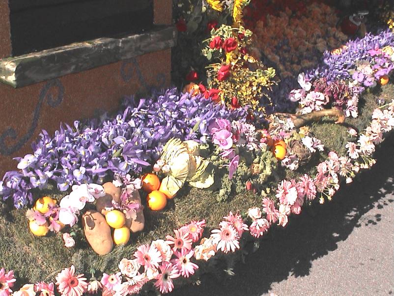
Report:
[[252,110],[262,110],[270,102],[268,91],[275,84],[275,69],[264,67],[249,53],[251,37],[252,31],[241,25],[222,25],[212,29],[202,50],[208,60],[219,61],[207,67],[208,85],[221,90],[219,101],[230,108],[249,105]]

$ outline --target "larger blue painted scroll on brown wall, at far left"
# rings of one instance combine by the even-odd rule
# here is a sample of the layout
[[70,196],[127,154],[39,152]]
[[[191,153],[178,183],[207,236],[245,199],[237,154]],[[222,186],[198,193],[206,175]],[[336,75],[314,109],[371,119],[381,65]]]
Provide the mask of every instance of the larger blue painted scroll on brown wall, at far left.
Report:
[[[57,96],[54,98],[51,94],[51,90],[56,89],[57,90]],[[64,87],[60,80],[54,79],[46,83],[39,94],[38,97],[38,103],[35,106],[34,110],[34,116],[31,121],[30,127],[27,131],[27,133],[19,138],[18,134],[13,129],[12,127],[8,127],[1,135],[0,135],[0,154],[2,155],[11,155],[12,153],[18,151],[20,148],[22,148],[28,140],[33,136],[35,129],[37,128],[38,125],[38,119],[40,118],[40,111],[42,104],[44,103],[45,99],[47,101],[47,104],[53,108],[56,108],[61,104],[63,101],[64,97]],[[7,146],[6,140],[7,138],[11,138],[13,140],[17,140],[17,142],[11,146]]]

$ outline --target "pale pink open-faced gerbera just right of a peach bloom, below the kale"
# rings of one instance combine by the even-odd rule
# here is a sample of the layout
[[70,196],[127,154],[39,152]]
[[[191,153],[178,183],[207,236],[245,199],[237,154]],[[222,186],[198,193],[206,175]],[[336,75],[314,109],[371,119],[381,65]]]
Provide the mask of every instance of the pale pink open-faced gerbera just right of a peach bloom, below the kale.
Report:
[[222,222],[224,223],[220,224],[220,229],[212,230],[213,243],[217,243],[217,250],[222,250],[224,253],[234,252],[235,249],[239,249],[238,233],[229,222]]

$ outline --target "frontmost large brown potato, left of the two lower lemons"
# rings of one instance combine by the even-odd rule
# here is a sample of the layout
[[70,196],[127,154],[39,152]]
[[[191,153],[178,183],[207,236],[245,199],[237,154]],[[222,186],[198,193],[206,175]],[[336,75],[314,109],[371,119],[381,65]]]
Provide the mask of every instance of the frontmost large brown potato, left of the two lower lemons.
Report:
[[87,210],[82,216],[82,225],[93,251],[99,255],[111,252],[113,247],[111,228],[102,214],[95,210]]

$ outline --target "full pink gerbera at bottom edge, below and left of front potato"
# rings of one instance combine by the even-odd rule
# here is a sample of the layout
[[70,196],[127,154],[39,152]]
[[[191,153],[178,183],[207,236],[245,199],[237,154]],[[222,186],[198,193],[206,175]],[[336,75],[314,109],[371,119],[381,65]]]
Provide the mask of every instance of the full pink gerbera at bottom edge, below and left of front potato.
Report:
[[84,274],[75,275],[75,267],[64,268],[56,276],[56,285],[59,292],[64,296],[81,296],[87,289]]

